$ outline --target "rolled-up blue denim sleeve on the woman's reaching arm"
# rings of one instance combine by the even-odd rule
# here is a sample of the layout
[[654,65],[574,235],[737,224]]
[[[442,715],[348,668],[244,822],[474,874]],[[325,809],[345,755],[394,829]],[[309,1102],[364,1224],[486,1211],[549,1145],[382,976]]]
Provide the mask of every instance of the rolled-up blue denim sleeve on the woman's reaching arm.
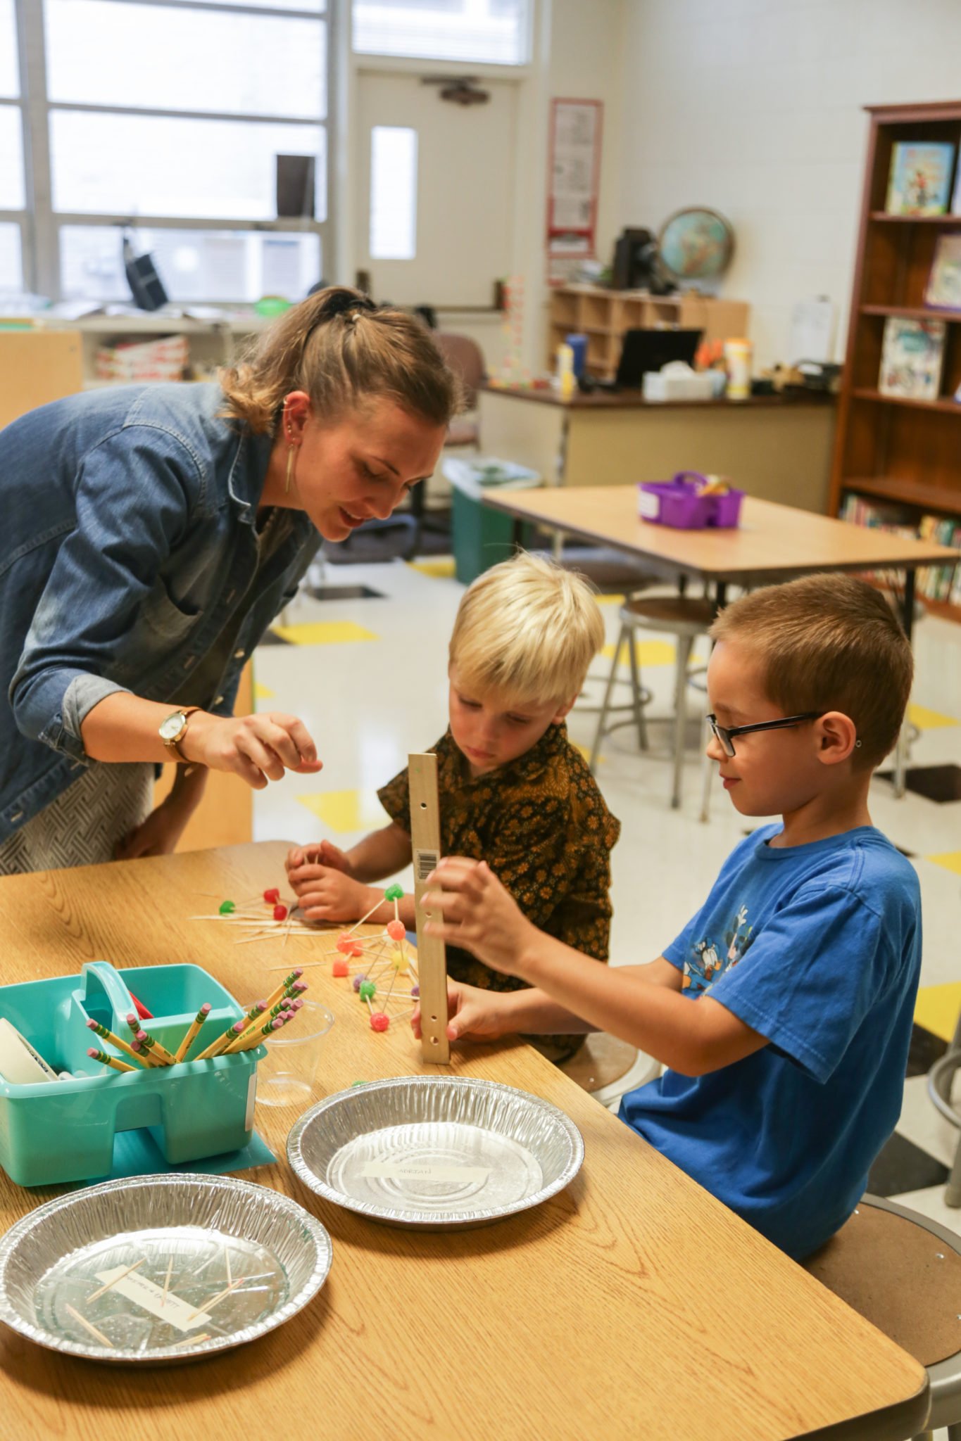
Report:
[[124,425],[76,481],[76,526],[56,552],[10,682],[20,732],[84,757],[81,725],[127,689],[117,656],[203,496],[203,465],[176,434]]

